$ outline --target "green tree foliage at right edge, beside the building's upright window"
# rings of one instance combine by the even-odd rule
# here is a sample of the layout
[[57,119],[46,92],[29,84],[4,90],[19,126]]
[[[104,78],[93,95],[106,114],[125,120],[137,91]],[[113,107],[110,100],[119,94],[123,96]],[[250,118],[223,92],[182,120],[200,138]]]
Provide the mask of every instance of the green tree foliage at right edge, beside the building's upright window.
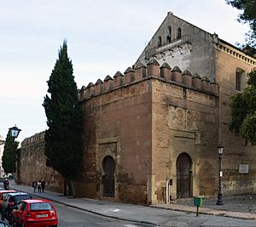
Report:
[[256,145],[256,69],[247,76],[247,88],[231,97],[230,131]]

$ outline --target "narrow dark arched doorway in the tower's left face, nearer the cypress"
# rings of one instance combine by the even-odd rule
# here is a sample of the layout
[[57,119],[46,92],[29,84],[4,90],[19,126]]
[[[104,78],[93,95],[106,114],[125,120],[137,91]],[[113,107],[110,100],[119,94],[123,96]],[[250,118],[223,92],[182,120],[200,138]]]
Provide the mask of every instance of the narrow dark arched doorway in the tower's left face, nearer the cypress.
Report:
[[114,170],[115,163],[112,156],[105,156],[102,161],[104,175],[103,182],[103,196],[114,197]]

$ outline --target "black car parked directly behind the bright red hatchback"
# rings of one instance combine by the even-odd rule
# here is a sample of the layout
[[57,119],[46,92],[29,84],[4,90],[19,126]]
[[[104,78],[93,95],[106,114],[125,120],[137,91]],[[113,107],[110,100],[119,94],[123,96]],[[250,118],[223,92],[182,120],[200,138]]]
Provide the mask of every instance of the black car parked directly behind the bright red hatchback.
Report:
[[4,218],[9,220],[12,211],[17,206],[18,202],[26,199],[32,199],[32,196],[24,192],[9,193],[9,195],[2,201],[2,220]]

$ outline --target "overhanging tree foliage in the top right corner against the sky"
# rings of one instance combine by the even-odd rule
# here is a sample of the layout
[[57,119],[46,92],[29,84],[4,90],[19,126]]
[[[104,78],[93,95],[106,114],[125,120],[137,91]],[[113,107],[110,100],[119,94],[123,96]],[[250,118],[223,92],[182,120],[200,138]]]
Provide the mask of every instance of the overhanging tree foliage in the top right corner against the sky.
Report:
[[242,10],[239,14],[238,21],[248,23],[250,31],[247,32],[246,45],[243,46],[248,54],[255,54],[256,48],[256,1],[255,0],[226,0],[228,4],[236,9]]

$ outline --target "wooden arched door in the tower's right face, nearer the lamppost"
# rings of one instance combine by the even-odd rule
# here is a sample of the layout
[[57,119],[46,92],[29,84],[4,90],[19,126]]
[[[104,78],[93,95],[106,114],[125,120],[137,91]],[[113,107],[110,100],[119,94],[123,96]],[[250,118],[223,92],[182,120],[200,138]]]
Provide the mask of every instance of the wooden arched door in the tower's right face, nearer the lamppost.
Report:
[[192,161],[187,153],[182,153],[177,157],[177,198],[192,196]]

